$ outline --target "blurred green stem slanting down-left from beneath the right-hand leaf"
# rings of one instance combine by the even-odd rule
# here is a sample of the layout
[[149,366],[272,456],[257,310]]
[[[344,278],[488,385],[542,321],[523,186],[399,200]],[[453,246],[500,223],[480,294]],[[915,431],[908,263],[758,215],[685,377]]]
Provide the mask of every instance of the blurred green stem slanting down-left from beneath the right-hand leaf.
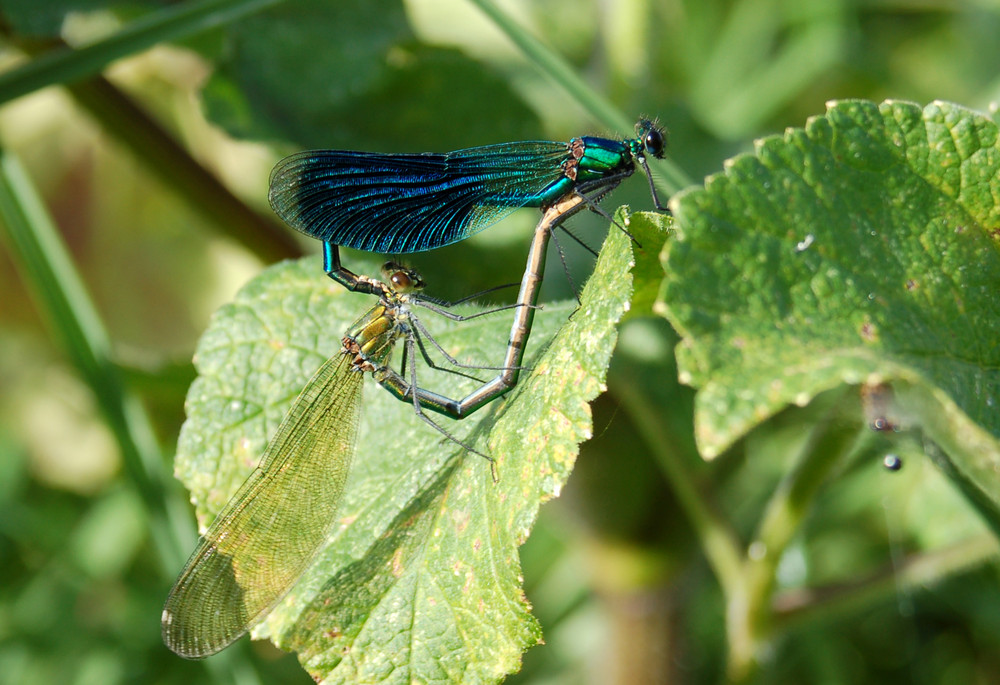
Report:
[[838,405],[846,392],[845,388],[827,396],[830,409],[810,434],[797,466],[771,496],[747,547],[743,585],[726,598],[731,682],[746,682],[759,669],[774,634],[771,599],[781,557],[830,471],[856,446],[858,432],[845,430],[839,420]]

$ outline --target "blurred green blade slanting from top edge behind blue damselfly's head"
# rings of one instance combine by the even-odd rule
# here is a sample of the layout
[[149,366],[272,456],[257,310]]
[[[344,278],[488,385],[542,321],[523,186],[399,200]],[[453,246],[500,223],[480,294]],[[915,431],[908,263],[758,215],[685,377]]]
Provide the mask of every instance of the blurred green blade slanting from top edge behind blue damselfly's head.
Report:
[[[616,131],[632,129],[634,120],[626,117],[607,98],[594,90],[577,75],[576,70],[561,55],[521,27],[513,17],[497,7],[493,0],[471,0],[471,2],[493,20],[497,28],[521,49],[530,62],[562,86],[570,97],[579,102],[603,125]],[[672,161],[663,160],[656,166],[664,173],[666,179],[656,178],[654,181],[667,193],[672,195],[681,188],[691,185],[691,179]]]

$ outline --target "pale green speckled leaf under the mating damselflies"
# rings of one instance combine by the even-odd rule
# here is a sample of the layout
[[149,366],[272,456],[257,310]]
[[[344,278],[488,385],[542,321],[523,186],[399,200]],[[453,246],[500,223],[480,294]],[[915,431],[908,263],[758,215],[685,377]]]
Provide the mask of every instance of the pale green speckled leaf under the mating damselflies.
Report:
[[[644,229],[640,240],[652,249],[657,235]],[[517,547],[590,436],[588,402],[603,389],[628,304],[630,259],[627,237],[612,230],[579,310],[552,304],[536,315],[531,372],[518,387],[464,421],[434,417],[497,460],[499,483],[411,406],[370,389],[340,525],[257,636],[299,652],[325,682],[492,682],[519,667],[540,631]],[[201,521],[239,487],[297,392],[371,304],[314,258],[268,269],[219,311],[198,347],[176,465]],[[505,313],[421,320],[470,363],[499,361],[510,329]],[[419,382],[453,397],[470,385],[426,370]]]

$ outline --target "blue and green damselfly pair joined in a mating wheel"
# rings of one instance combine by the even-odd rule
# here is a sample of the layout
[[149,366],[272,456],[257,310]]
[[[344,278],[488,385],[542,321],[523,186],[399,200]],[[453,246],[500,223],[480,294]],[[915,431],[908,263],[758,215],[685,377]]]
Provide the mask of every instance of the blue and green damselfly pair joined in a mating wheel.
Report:
[[[354,456],[361,377],[371,372],[417,413],[462,418],[517,382],[541,282],[550,232],[663,153],[662,131],[648,121],[625,141],[506,143],[447,154],[304,152],[280,162],[271,201],[293,227],[324,244],[327,273],[379,302],[345,335],[295,400],[260,465],[203,536],[168,596],[163,636],[178,654],[199,658],[230,644],[291,589],[334,524]],[[652,180],[650,177],[650,187]],[[653,192],[654,202],[659,207]],[[359,277],[340,263],[339,245],[407,253],[461,240],[521,206],[543,207],[514,305],[507,352],[495,379],[452,400],[419,387],[419,320],[412,308],[419,278],[393,266],[384,280]],[[405,341],[408,368],[389,358]],[[436,424],[433,424],[439,428]],[[440,428],[439,428],[440,429]],[[487,456],[487,455],[484,455]]]

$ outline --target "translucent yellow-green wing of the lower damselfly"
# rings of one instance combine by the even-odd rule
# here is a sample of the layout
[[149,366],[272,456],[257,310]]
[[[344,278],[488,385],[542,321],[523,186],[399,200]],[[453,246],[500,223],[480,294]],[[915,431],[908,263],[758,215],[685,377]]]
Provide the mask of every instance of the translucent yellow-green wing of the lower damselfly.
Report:
[[336,521],[364,374],[338,353],[309,380],[260,465],[201,538],[163,608],[163,641],[200,658],[226,647],[292,588]]

